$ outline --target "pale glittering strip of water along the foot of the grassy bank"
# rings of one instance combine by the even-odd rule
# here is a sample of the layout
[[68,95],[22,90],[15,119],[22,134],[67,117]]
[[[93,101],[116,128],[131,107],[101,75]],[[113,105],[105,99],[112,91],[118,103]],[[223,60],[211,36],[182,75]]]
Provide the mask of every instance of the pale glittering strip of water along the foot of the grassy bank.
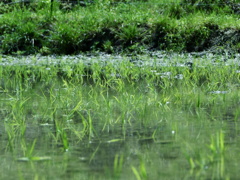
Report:
[[[169,66],[174,63],[175,66],[189,66],[194,63],[200,67],[208,65],[239,65],[240,54],[234,56],[215,55],[210,52],[205,53],[168,53],[164,51],[149,52],[145,55],[109,55],[104,53],[92,55],[75,55],[75,56],[5,56],[0,55],[0,66],[15,66],[15,65],[71,65],[84,63],[90,65],[98,63],[100,65],[115,64],[118,65],[122,61],[130,61],[137,66]],[[50,70],[50,69],[46,69]]]

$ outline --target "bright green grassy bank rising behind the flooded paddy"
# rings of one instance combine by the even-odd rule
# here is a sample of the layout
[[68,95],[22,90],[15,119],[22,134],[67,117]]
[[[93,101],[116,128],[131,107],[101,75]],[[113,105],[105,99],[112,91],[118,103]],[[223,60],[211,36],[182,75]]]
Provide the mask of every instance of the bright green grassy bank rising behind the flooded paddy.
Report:
[[[10,2],[10,1],[9,1]],[[240,49],[239,4],[146,0],[1,3],[3,54]]]

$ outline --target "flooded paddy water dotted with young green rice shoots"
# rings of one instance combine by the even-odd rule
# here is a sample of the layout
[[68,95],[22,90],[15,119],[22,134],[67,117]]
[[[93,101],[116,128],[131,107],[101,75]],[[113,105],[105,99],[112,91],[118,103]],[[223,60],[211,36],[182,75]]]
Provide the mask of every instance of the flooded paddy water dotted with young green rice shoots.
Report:
[[0,57],[0,179],[238,179],[239,58]]

